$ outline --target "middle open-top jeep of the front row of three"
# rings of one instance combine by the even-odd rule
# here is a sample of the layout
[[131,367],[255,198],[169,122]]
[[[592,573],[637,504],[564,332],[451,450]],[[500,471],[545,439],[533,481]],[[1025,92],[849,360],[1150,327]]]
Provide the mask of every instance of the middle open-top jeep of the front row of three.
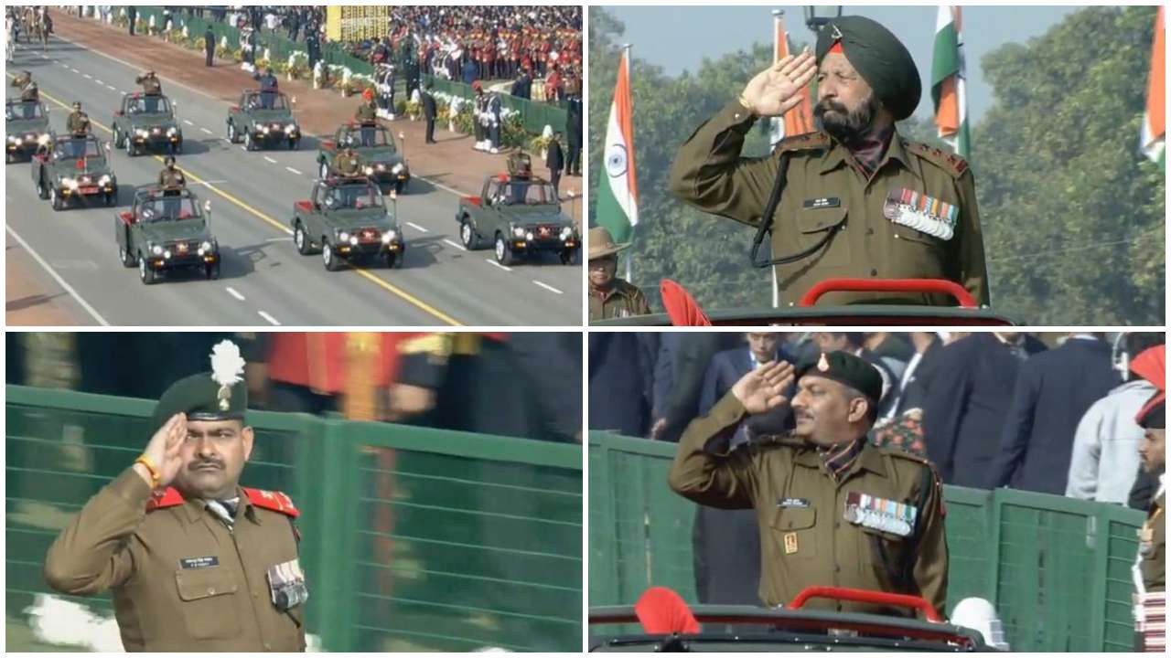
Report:
[[395,207],[386,206],[369,178],[319,180],[309,199],[293,204],[290,224],[296,251],[307,255],[320,249],[330,272],[341,269],[342,261],[375,259],[385,260],[386,267],[403,267],[406,241]]

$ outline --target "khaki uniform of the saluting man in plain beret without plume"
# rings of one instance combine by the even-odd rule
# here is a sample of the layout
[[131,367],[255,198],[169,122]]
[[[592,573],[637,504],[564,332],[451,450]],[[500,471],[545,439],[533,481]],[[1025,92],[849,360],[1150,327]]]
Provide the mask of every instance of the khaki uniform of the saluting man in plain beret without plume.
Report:
[[[731,452],[704,451],[710,439],[731,437],[744,418],[744,405],[730,392],[693,420],[679,440],[669,480],[699,505],[756,510],[765,605],[787,604],[807,587],[830,585],[922,596],[944,614],[943,488],[926,461],[867,444],[835,482],[817,451],[793,437]],[[848,505],[861,494],[913,506],[917,520],[910,534],[848,520]],[[869,603],[810,599],[807,605],[909,616],[906,609]]]

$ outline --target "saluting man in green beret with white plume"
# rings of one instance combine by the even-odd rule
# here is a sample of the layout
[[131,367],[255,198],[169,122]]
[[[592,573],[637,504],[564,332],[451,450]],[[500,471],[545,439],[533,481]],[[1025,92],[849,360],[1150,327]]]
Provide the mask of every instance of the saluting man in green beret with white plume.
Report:
[[146,450],[57,536],[44,575],[112,590],[128,651],[303,651],[299,513],[237,484],[253,445],[239,349],[215,345],[212,370],[163,395]]

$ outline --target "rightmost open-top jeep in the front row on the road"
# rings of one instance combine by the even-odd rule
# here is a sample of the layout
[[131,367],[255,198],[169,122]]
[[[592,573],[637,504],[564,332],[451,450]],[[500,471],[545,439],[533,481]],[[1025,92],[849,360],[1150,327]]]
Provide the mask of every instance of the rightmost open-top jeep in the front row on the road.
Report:
[[527,174],[485,178],[479,197],[459,200],[456,221],[465,248],[492,245],[504,266],[540,252],[556,252],[563,265],[573,265],[581,252],[581,237],[553,185]]

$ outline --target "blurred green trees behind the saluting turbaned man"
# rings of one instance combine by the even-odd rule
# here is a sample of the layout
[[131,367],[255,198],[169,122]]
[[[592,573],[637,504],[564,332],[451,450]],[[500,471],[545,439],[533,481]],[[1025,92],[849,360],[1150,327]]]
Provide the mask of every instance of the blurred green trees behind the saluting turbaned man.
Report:
[[[1087,7],[981,61],[994,101],[972,126],[971,166],[993,308],[1008,317],[1164,322],[1166,184],[1138,151],[1155,11]],[[590,12],[589,162],[598,163],[624,27],[600,7]],[[685,207],[666,193],[666,177],[678,146],[768,66],[772,46],[705,59],[678,77],[639,60],[637,44],[632,54],[634,282],[657,308],[660,279],[678,281],[705,308],[769,306],[771,270],[748,263],[753,231]],[[929,66],[925,56],[919,66]],[[939,145],[930,116],[898,129]],[[767,151],[765,129],[753,130],[745,155]],[[601,169],[590,167],[591,189]],[[591,224],[593,215],[591,206]]]

